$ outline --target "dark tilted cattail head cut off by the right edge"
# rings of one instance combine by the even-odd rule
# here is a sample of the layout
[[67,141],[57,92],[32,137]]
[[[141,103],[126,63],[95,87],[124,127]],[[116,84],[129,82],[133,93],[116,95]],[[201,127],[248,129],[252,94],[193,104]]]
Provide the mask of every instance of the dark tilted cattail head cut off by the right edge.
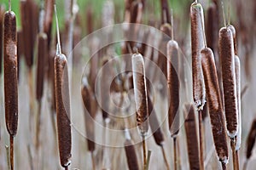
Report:
[[256,119],[253,120],[247,137],[247,159],[252,156],[253,147],[256,139]]

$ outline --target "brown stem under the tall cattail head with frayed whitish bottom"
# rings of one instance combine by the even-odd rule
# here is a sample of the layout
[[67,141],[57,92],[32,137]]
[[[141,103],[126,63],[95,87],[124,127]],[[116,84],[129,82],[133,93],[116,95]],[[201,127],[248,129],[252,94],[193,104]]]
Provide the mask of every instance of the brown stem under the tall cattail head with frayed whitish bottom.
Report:
[[204,133],[202,127],[202,110],[198,111],[199,140],[200,140],[200,167],[204,170]]

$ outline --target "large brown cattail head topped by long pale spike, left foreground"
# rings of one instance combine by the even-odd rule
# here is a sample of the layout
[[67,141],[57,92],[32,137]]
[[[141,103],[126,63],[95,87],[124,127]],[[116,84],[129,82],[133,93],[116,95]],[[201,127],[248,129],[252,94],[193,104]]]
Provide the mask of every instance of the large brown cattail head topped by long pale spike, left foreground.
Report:
[[71,163],[71,122],[70,100],[67,72],[67,58],[61,54],[61,41],[56,14],[58,44],[55,55],[55,105],[57,114],[57,132],[61,166],[68,169]]

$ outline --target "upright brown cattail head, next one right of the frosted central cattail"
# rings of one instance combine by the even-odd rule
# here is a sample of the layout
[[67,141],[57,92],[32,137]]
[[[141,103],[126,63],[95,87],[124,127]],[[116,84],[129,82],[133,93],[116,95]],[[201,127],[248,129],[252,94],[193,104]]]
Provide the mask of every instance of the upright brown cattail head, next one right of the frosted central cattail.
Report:
[[179,129],[179,80],[178,80],[178,45],[171,40],[167,43],[167,82],[170,95],[170,106],[168,111],[169,130],[171,136],[175,137]]

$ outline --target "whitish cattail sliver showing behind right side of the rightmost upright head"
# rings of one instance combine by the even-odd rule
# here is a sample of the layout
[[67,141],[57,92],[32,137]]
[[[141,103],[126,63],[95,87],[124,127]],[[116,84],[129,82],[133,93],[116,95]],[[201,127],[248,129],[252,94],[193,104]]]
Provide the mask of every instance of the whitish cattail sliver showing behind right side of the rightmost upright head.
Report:
[[235,71],[236,71],[236,98],[238,111],[238,132],[236,134],[236,150],[241,148],[241,69],[240,59],[235,55]]

